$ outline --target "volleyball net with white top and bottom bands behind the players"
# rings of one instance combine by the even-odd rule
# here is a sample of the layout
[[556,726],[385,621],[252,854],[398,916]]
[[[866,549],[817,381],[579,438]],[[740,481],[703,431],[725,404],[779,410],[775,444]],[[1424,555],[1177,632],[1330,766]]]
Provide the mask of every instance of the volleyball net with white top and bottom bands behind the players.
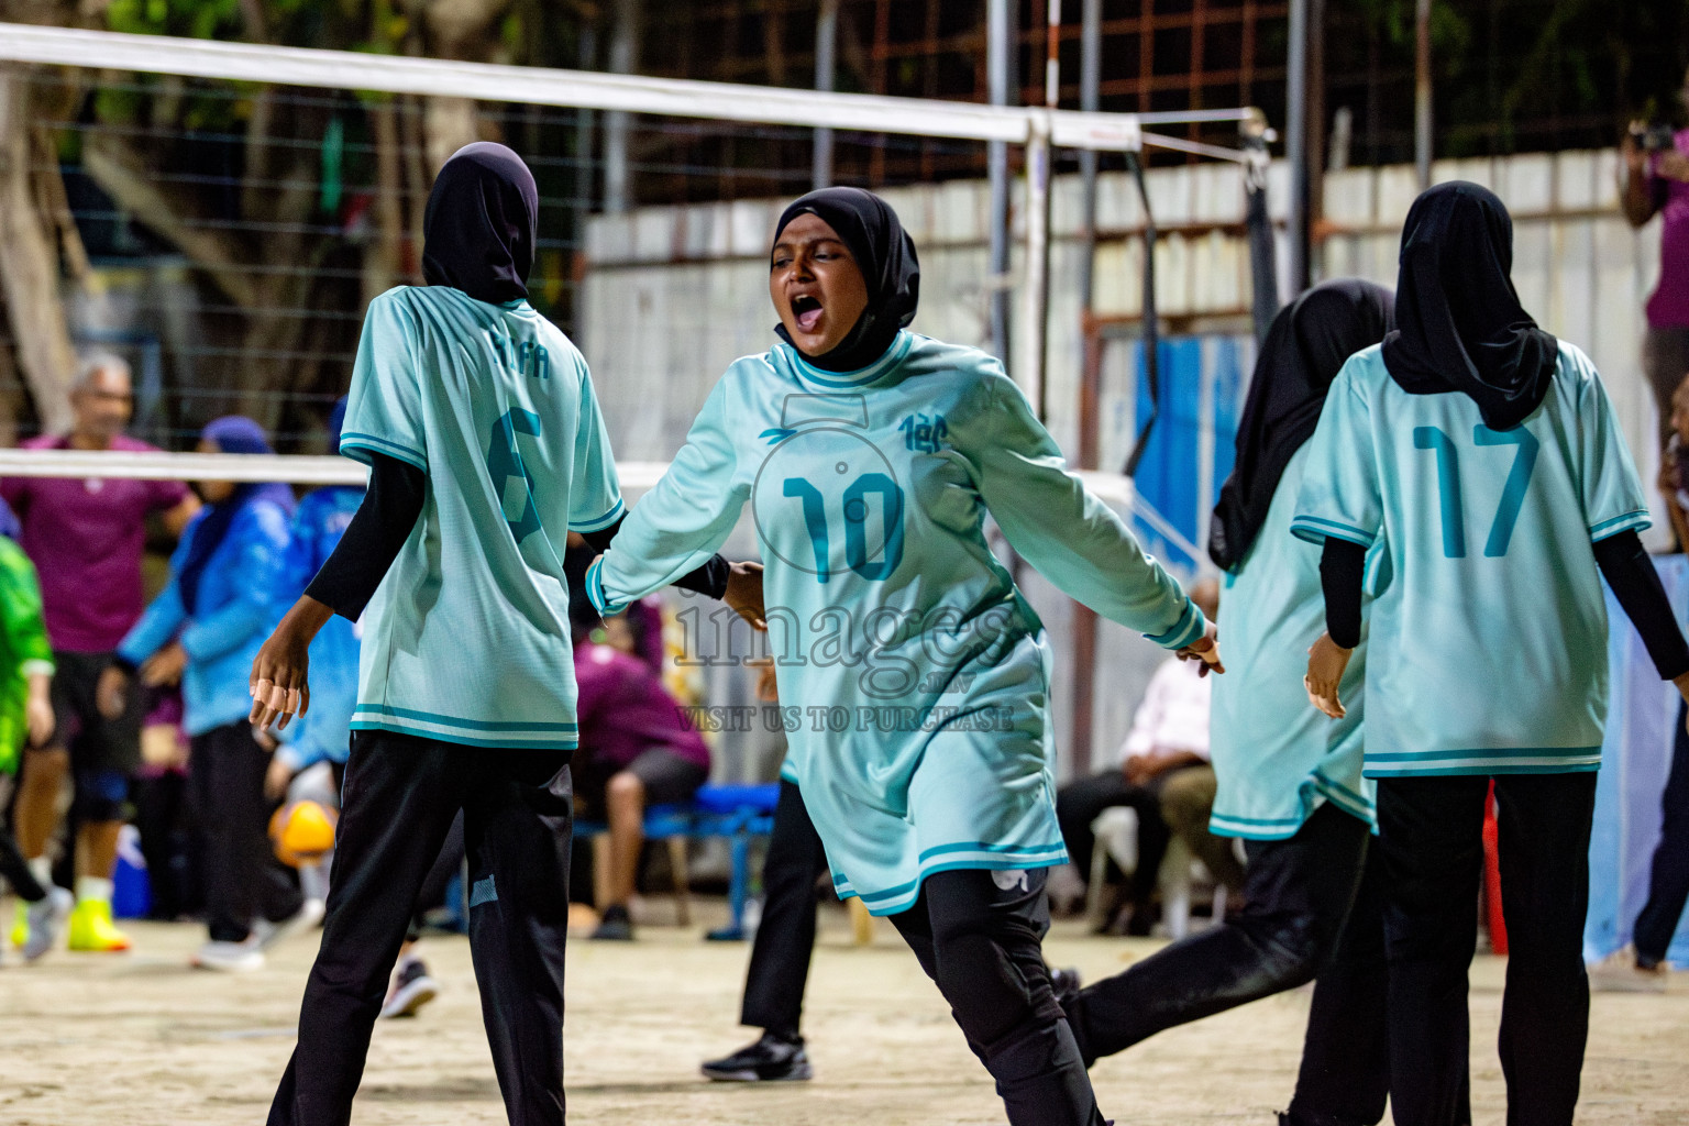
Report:
[[[1116,179],[1152,149],[1250,160],[1192,138],[1243,108],[1081,113],[29,25],[0,25],[0,191],[35,219],[0,236],[0,437],[62,429],[76,358],[110,351],[135,373],[137,437],[191,449],[240,412],[282,451],[0,452],[14,476],[361,479],[314,456],[324,419],[368,299],[421,282],[434,171],[478,138],[534,167],[534,304],[586,353],[630,491],[660,476],[725,365],[767,346],[767,236],[821,176],[821,145],[831,179],[887,194],[922,246],[915,328],[995,348],[1066,446],[1081,314],[1051,297],[1052,214],[1067,243],[1074,228],[1052,174],[1084,150]],[[1152,216],[1120,184],[1105,225],[1130,241]],[[30,236],[54,273],[35,285],[10,268]],[[1071,246],[1056,255],[1066,270]],[[1093,485],[1133,503],[1116,474]]]

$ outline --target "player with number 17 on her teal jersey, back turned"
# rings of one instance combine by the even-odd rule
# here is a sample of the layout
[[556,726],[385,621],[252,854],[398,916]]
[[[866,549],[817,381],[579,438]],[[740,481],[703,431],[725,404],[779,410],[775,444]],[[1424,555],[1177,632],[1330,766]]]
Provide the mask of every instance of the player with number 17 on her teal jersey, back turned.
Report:
[[1508,1123],[1572,1121],[1608,706],[1598,569],[1659,672],[1689,694],[1689,647],[1637,539],[1647,500],[1613,407],[1588,356],[1520,307],[1512,257],[1512,219],[1490,191],[1439,184],[1414,203],[1397,328],[1333,383],[1292,522],[1324,544],[1329,635],[1307,689],[1334,717],[1368,549],[1388,576],[1368,620],[1365,771],[1378,783],[1400,1126],[1458,1126],[1466,1111],[1491,782]]

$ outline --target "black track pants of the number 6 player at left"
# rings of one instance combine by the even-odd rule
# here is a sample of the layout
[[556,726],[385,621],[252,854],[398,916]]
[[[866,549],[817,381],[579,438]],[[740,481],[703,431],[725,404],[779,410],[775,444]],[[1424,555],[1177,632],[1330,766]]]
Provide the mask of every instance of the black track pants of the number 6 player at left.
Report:
[[388,972],[459,809],[470,856],[470,950],[505,1112],[512,1126],[564,1121],[568,763],[569,751],[353,734],[323,945],[270,1126],[341,1126],[351,1118]]

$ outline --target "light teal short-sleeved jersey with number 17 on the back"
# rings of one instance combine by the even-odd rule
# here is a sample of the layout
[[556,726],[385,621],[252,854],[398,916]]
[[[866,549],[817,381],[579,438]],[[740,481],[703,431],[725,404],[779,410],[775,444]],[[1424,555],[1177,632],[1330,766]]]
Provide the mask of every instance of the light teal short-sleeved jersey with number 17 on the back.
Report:
[[1409,395],[1380,348],[1338,373],[1292,528],[1371,545],[1366,773],[1596,770],[1606,603],[1593,542],[1648,525],[1613,407],[1561,343],[1542,405],[1491,430],[1466,395]]

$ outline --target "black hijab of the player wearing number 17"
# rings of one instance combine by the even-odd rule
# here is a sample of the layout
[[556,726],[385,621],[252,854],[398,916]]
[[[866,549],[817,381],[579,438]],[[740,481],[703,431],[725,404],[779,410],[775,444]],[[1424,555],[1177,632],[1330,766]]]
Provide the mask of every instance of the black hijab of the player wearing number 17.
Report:
[[1427,189],[1402,228],[1390,376],[1410,395],[1464,392],[1507,430],[1549,393],[1559,341],[1513,290],[1513,219],[1495,192],[1453,181]]

